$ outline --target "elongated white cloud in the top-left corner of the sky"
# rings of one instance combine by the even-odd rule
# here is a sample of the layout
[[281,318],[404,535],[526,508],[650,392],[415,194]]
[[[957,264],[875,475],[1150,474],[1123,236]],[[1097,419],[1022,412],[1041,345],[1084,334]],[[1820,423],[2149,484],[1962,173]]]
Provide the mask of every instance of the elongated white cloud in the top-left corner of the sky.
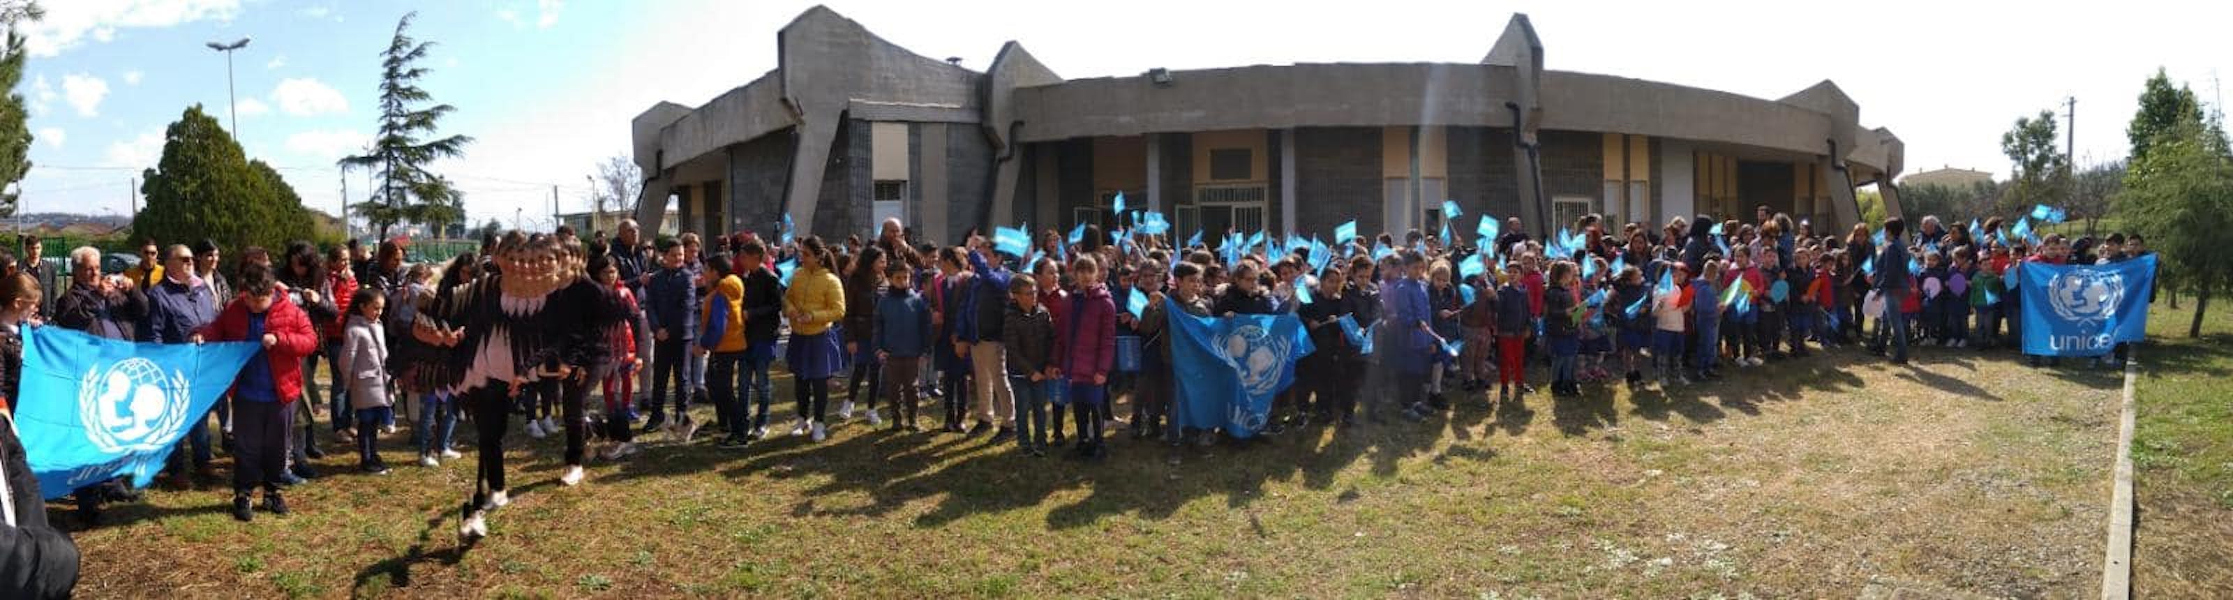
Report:
[[107,42],[116,29],[163,29],[197,20],[232,20],[239,0],[69,0],[40,2],[47,18],[25,27],[31,56],[56,56],[87,38]]

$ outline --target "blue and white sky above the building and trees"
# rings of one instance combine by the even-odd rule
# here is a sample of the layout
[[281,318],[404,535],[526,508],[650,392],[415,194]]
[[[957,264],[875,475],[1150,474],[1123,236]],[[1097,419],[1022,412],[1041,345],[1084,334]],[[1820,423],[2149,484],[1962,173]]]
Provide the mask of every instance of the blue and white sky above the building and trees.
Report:
[[[438,172],[473,221],[536,225],[583,210],[585,174],[627,152],[627,120],[659,100],[697,107],[775,67],[775,31],[799,0],[47,0],[29,27],[36,167],[25,212],[127,212],[130,178],[161,154],[163,127],[194,103],[223,118],[234,56],[239,129],[304,203],[337,212],[333,161],[373,132],[377,54],[395,20],[435,40],[424,87],[476,136]],[[2233,2],[1434,2],[1268,4],[1137,0],[878,2],[831,9],[931,58],[985,69],[1005,40],[1065,78],[1286,62],[1474,62],[1514,11],[1532,16],[1550,69],[1617,74],[1777,98],[1836,80],[1860,120],[1907,143],[1907,172],[2007,172],[1999,136],[2016,116],[2079,98],[2081,165],[2121,158],[2141,80],[2166,67],[2211,100],[2233,67]],[[1268,9],[1275,7],[1275,9]],[[2164,18],[2175,11],[2177,18]],[[2229,71],[2226,76],[2233,76]],[[364,196],[364,176],[351,178]]]

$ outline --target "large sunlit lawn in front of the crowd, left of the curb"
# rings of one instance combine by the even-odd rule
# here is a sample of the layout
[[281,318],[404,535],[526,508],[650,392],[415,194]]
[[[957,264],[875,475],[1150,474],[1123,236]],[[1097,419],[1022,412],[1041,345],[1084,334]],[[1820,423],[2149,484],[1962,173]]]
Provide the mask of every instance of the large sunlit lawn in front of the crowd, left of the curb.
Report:
[[[2226,368],[2226,355],[2188,368]],[[1916,368],[1891,368],[1836,350],[1675,393],[1590,388],[1525,408],[1476,395],[1425,424],[1186,448],[1181,466],[1152,442],[1116,439],[1108,462],[1081,464],[860,422],[824,444],[746,451],[654,435],[630,462],[594,462],[578,488],[556,484],[563,442],[540,439],[511,453],[516,500],[471,549],[453,538],[471,459],[420,468],[397,435],[393,475],[301,486],[290,517],[232,522],[221,488],[114,506],[76,533],[78,591],[2074,598],[2099,584],[2117,390],[2115,370],[2034,370],[2007,352],[1920,350]],[[2162,571],[2141,580],[2166,584],[2159,596],[2224,584],[2224,538],[2215,562],[2159,558],[2211,542],[2186,517],[2226,522],[2222,401],[2220,419],[2191,426],[2144,408],[2141,439],[2162,448],[2144,455],[2139,497],[2177,500],[2141,515],[2141,569]],[[2173,509],[2182,522],[2153,522]]]

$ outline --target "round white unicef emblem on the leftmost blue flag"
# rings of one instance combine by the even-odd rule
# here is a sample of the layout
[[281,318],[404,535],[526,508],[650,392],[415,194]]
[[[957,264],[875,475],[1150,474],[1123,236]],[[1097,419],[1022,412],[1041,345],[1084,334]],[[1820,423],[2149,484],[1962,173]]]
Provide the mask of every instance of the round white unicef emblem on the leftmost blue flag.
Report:
[[78,381],[78,419],[103,453],[161,451],[185,426],[185,372],[163,377],[154,361],[132,357]]

